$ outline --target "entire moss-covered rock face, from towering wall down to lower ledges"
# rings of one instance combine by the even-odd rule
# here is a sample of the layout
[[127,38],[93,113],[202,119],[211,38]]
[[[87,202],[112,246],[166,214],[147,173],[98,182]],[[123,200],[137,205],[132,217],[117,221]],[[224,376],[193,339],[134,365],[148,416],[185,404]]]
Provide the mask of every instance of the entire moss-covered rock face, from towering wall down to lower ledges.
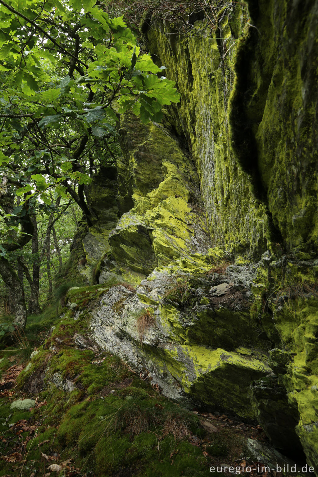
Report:
[[219,2],[213,27],[190,13],[184,30],[147,14],[147,49],[181,103],[162,124],[121,118],[118,176],[96,178],[101,219],[82,238],[99,283],[115,283],[93,311],[99,345],[169,396],[258,421],[312,466],[317,9]]

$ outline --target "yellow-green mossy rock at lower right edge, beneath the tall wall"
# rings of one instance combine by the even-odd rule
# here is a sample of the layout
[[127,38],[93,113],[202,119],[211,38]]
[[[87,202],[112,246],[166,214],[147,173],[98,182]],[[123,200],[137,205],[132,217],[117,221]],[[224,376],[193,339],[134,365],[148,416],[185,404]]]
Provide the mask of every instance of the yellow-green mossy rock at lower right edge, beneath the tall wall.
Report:
[[297,434],[311,464],[318,452],[313,437],[318,422],[317,275],[315,262],[272,261],[267,269],[259,270],[253,289],[261,320],[268,307],[279,333],[282,350],[272,351],[270,364],[297,409]]

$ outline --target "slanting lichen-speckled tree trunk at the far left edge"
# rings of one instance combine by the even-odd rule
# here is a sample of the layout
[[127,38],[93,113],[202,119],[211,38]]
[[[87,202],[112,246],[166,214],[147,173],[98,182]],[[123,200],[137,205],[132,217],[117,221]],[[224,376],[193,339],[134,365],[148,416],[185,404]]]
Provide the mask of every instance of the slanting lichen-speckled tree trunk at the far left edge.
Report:
[[14,322],[24,329],[27,322],[27,307],[25,306],[23,284],[9,261],[3,257],[0,257],[0,274],[4,283],[14,292]]

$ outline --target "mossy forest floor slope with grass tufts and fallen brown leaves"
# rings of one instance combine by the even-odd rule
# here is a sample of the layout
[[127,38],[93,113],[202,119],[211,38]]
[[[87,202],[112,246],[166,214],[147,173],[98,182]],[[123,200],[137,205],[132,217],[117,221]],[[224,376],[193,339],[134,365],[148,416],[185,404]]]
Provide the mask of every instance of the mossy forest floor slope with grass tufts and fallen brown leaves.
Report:
[[267,441],[259,426],[169,400],[147,372],[134,373],[87,336],[89,346],[79,346],[84,318],[79,335],[74,320],[56,315],[29,317],[25,333],[2,343],[0,476],[231,475],[217,471],[225,466],[283,475],[244,471],[264,465],[246,461],[248,439]]

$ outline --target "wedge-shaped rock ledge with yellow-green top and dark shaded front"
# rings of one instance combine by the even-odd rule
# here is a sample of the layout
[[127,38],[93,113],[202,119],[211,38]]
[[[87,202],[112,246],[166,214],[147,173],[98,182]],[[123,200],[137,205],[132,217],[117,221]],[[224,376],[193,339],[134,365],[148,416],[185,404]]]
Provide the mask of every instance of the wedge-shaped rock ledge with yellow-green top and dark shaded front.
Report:
[[171,373],[186,393],[216,409],[255,419],[246,393],[253,380],[270,372],[265,357],[198,345],[168,344],[146,352],[152,353],[156,366],[162,373]]

